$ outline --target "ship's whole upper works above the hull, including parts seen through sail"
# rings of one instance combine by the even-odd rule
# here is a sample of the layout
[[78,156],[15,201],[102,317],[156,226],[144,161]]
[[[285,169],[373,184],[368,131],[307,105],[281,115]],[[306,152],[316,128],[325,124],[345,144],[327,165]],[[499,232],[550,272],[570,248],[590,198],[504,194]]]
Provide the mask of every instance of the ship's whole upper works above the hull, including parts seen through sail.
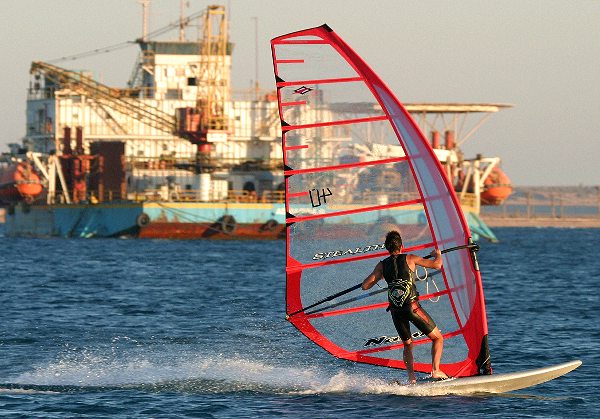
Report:
[[[142,4],[147,28],[148,2]],[[196,40],[186,39],[187,25],[202,28]],[[49,176],[47,202],[281,202],[283,165],[276,93],[256,89],[247,92],[245,98],[232,97],[233,45],[227,25],[225,8],[209,6],[202,13],[181,18],[176,41],[150,40],[144,29],[137,40],[140,54],[127,88],[103,85],[89,72],[34,62],[24,144],[45,156],[47,166],[61,161],[69,166],[41,170],[58,175],[67,172],[66,180],[61,178],[60,182],[53,178],[56,175]],[[490,176],[498,173],[499,159],[464,159],[458,147],[491,114],[508,106],[406,105],[422,130],[431,133],[432,145],[446,164],[448,176],[453,181],[460,178],[460,185],[455,183],[459,196],[475,213],[486,185],[498,186],[498,182],[490,182]],[[368,113],[376,107],[365,104],[363,111]],[[307,112],[319,112],[330,120],[327,114],[345,111],[341,103]],[[483,116],[461,131],[469,115]],[[319,147],[322,156],[335,159],[352,134],[329,131],[318,139]],[[363,138],[371,139],[369,135]],[[381,150],[371,147],[349,152],[364,155]],[[396,147],[386,153],[398,155],[402,151]],[[94,158],[97,155],[102,159]]]

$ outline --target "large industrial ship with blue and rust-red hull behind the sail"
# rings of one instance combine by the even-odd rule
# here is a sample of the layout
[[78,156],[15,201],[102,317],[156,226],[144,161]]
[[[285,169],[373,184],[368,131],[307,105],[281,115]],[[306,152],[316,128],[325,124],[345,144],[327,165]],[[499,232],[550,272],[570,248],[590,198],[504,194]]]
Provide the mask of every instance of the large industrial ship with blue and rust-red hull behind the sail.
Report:
[[[146,28],[149,2],[142,2]],[[188,39],[186,25],[201,27]],[[233,92],[232,51],[224,6],[182,18],[179,38],[136,41],[140,52],[124,88],[88,71],[36,61],[31,65],[26,133],[0,157],[0,205],[5,234],[27,237],[154,239],[277,239],[285,232],[282,145],[276,91]],[[168,28],[167,28],[168,29]],[[163,30],[155,31],[158,33]],[[322,98],[311,112],[348,112]],[[460,146],[491,114],[493,103],[408,104],[455,185],[472,231],[496,240],[479,218],[481,205],[499,205],[511,192],[500,159],[465,158]],[[378,104],[365,103],[362,115]],[[301,116],[300,116],[301,117]],[[353,117],[360,117],[354,115]],[[466,129],[465,120],[477,122]],[[402,154],[376,132],[324,131],[311,139],[332,163]],[[364,146],[348,147],[352,136]],[[313,158],[310,153],[303,157]],[[395,191],[393,170],[377,191],[360,176],[344,183],[347,205],[358,195]],[[352,198],[354,197],[354,198]],[[385,217],[386,214],[374,214]],[[397,224],[414,224],[409,207]],[[401,219],[400,219],[401,218]]]

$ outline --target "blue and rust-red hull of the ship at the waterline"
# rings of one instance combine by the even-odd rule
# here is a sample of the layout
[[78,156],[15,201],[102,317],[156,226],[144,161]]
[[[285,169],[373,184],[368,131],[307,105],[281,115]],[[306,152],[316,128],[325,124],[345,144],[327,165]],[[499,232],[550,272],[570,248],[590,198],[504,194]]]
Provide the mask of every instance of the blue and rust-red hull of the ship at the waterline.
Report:
[[[473,233],[496,241],[473,212],[465,211]],[[406,210],[397,224],[418,225],[419,212]],[[360,226],[358,226],[360,227]],[[337,229],[357,234],[357,226]],[[276,240],[285,237],[283,203],[145,202],[82,205],[26,205],[7,211],[5,234],[12,237],[109,238],[176,240]]]

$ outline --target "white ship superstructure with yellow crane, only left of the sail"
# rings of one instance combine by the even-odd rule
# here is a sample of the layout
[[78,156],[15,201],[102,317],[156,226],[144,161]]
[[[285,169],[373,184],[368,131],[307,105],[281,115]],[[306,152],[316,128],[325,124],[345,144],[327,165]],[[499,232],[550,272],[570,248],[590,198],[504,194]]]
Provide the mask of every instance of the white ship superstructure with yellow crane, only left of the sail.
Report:
[[[225,9],[209,6],[182,23],[194,19],[203,28],[195,41],[183,30],[172,42],[144,34],[124,89],[98,83],[88,72],[34,62],[27,148],[64,153],[65,127],[81,127],[86,154],[94,143],[122,143],[128,198],[164,197],[165,186],[202,201],[224,199],[232,190],[261,195],[280,187],[276,97],[249,92],[232,100]],[[75,150],[76,139],[70,142]]]

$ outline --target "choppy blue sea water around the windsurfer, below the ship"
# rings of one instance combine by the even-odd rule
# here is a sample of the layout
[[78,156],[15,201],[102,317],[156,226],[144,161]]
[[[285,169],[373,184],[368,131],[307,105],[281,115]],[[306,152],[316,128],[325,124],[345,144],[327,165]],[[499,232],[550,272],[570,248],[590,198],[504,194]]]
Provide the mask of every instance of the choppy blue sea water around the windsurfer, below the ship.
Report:
[[495,372],[583,365],[479,397],[408,396],[387,384],[404,372],[300,335],[283,242],[0,237],[0,415],[598,417],[600,232],[495,232],[479,253]]

